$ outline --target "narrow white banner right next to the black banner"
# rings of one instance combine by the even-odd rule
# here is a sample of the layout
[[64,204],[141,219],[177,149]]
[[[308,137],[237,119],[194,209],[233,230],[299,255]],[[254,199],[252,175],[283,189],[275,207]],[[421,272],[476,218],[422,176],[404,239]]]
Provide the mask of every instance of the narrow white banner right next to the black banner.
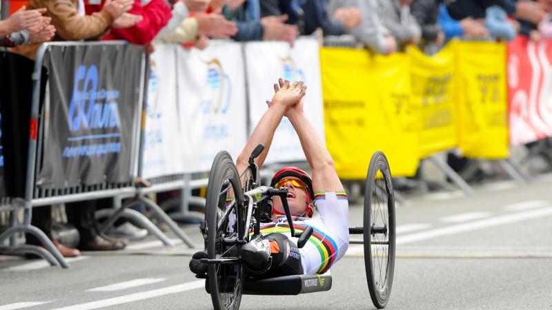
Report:
[[176,49],[177,45],[159,44],[150,55],[142,163],[144,178],[184,172],[177,107]]

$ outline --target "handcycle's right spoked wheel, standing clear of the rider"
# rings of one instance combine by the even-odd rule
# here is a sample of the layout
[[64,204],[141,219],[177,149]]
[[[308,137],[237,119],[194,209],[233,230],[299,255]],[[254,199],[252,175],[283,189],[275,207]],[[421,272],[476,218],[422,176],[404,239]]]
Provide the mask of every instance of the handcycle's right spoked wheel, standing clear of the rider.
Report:
[[375,307],[389,300],[395,269],[395,199],[389,163],[376,152],[368,167],[364,192],[364,265]]

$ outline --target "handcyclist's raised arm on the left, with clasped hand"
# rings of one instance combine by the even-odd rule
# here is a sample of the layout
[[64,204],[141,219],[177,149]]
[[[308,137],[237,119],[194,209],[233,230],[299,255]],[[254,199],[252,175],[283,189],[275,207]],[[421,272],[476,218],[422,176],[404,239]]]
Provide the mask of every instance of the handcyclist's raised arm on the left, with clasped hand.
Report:
[[253,152],[253,149],[260,143],[264,145],[264,151],[255,158],[257,166],[262,167],[270,144],[274,138],[274,132],[278,127],[282,117],[288,111],[290,107],[295,105],[305,95],[306,87],[303,87],[303,83],[293,83],[293,85],[282,85],[278,87],[274,85],[276,94],[274,95],[272,102],[268,106],[268,110],[264,112],[261,120],[257,123],[253,134],[249,137],[246,146],[242,150],[242,153],[237,157],[236,167],[237,171],[241,174],[248,165],[248,158]]

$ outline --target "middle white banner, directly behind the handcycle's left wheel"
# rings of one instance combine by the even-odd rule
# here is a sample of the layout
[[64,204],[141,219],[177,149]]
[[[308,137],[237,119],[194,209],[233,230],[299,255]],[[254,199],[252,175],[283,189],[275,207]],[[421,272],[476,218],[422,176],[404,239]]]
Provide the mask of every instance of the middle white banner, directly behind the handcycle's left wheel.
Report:
[[247,135],[242,45],[211,41],[202,51],[179,47],[177,68],[184,169],[208,171],[221,150],[235,161]]

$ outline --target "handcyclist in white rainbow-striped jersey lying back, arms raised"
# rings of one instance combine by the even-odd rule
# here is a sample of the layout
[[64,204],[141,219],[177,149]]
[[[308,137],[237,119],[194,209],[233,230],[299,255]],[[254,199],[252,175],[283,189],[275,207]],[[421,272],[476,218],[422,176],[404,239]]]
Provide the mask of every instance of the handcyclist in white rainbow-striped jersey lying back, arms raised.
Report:
[[[299,136],[313,178],[297,167],[285,167],[273,176],[270,186],[288,188],[287,201],[294,228],[303,231],[311,226],[313,234],[304,247],[297,248],[297,238],[290,234],[282,200],[274,196],[272,223],[262,224],[261,236],[242,247],[242,259],[247,269],[263,272],[263,276],[325,273],[344,256],[348,247],[348,200],[331,155],[303,112],[306,86],[282,79],[278,82],[274,85],[272,101],[267,101],[268,110],[238,156],[236,166],[238,172],[244,171],[251,152],[262,143],[265,149],[255,159],[260,169],[276,128],[286,116]],[[319,218],[313,218],[315,209],[319,211]],[[194,254],[190,270],[205,274],[207,266],[199,259],[206,257],[206,251]]]

